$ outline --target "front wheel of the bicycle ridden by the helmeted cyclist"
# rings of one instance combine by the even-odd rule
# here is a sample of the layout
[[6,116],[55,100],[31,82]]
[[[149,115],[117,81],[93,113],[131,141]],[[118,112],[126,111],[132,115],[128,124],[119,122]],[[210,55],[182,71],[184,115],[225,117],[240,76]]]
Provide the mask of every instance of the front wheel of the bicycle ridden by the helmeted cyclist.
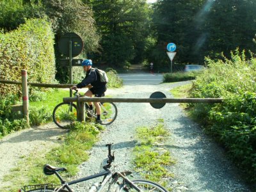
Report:
[[67,129],[77,119],[76,105],[72,102],[61,102],[54,108],[52,119],[58,127]]

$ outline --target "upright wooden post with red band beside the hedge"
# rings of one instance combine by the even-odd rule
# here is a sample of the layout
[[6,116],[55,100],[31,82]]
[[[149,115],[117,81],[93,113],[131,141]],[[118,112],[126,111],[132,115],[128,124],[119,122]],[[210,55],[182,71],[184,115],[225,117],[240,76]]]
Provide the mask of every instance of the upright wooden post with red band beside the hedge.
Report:
[[27,77],[27,70],[22,69],[21,71],[21,81],[22,81],[22,108],[23,108],[23,115],[24,118],[29,125],[29,111],[28,111],[28,77]]

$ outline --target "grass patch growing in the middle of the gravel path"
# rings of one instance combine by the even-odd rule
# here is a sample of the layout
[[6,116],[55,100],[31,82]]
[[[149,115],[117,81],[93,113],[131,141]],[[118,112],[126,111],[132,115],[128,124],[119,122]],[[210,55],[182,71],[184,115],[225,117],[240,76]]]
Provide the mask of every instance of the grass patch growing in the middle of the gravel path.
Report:
[[163,119],[159,119],[152,127],[138,127],[136,139],[138,145],[134,147],[135,171],[141,177],[167,186],[168,180],[173,174],[168,171],[168,166],[175,163],[170,152],[164,147],[164,142],[170,136],[163,125]]

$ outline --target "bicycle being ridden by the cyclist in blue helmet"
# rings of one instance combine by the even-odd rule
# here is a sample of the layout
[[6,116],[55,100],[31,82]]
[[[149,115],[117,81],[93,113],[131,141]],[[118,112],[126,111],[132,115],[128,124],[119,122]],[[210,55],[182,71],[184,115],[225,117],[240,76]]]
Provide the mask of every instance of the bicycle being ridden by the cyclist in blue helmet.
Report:
[[[77,92],[78,90],[75,90],[74,96],[81,97],[81,95]],[[104,97],[104,95],[102,97]],[[117,116],[116,105],[113,102],[99,102],[99,104],[101,111],[100,117],[102,120],[100,124],[108,125],[113,123]],[[77,119],[76,109],[77,107],[74,102],[61,102],[53,110],[52,118],[54,123],[62,129],[67,128],[68,125],[72,124]],[[90,110],[87,103],[85,104],[85,113],[87,117],[90,118],[92,121],[95,121],[97,119],[96,110]]]

